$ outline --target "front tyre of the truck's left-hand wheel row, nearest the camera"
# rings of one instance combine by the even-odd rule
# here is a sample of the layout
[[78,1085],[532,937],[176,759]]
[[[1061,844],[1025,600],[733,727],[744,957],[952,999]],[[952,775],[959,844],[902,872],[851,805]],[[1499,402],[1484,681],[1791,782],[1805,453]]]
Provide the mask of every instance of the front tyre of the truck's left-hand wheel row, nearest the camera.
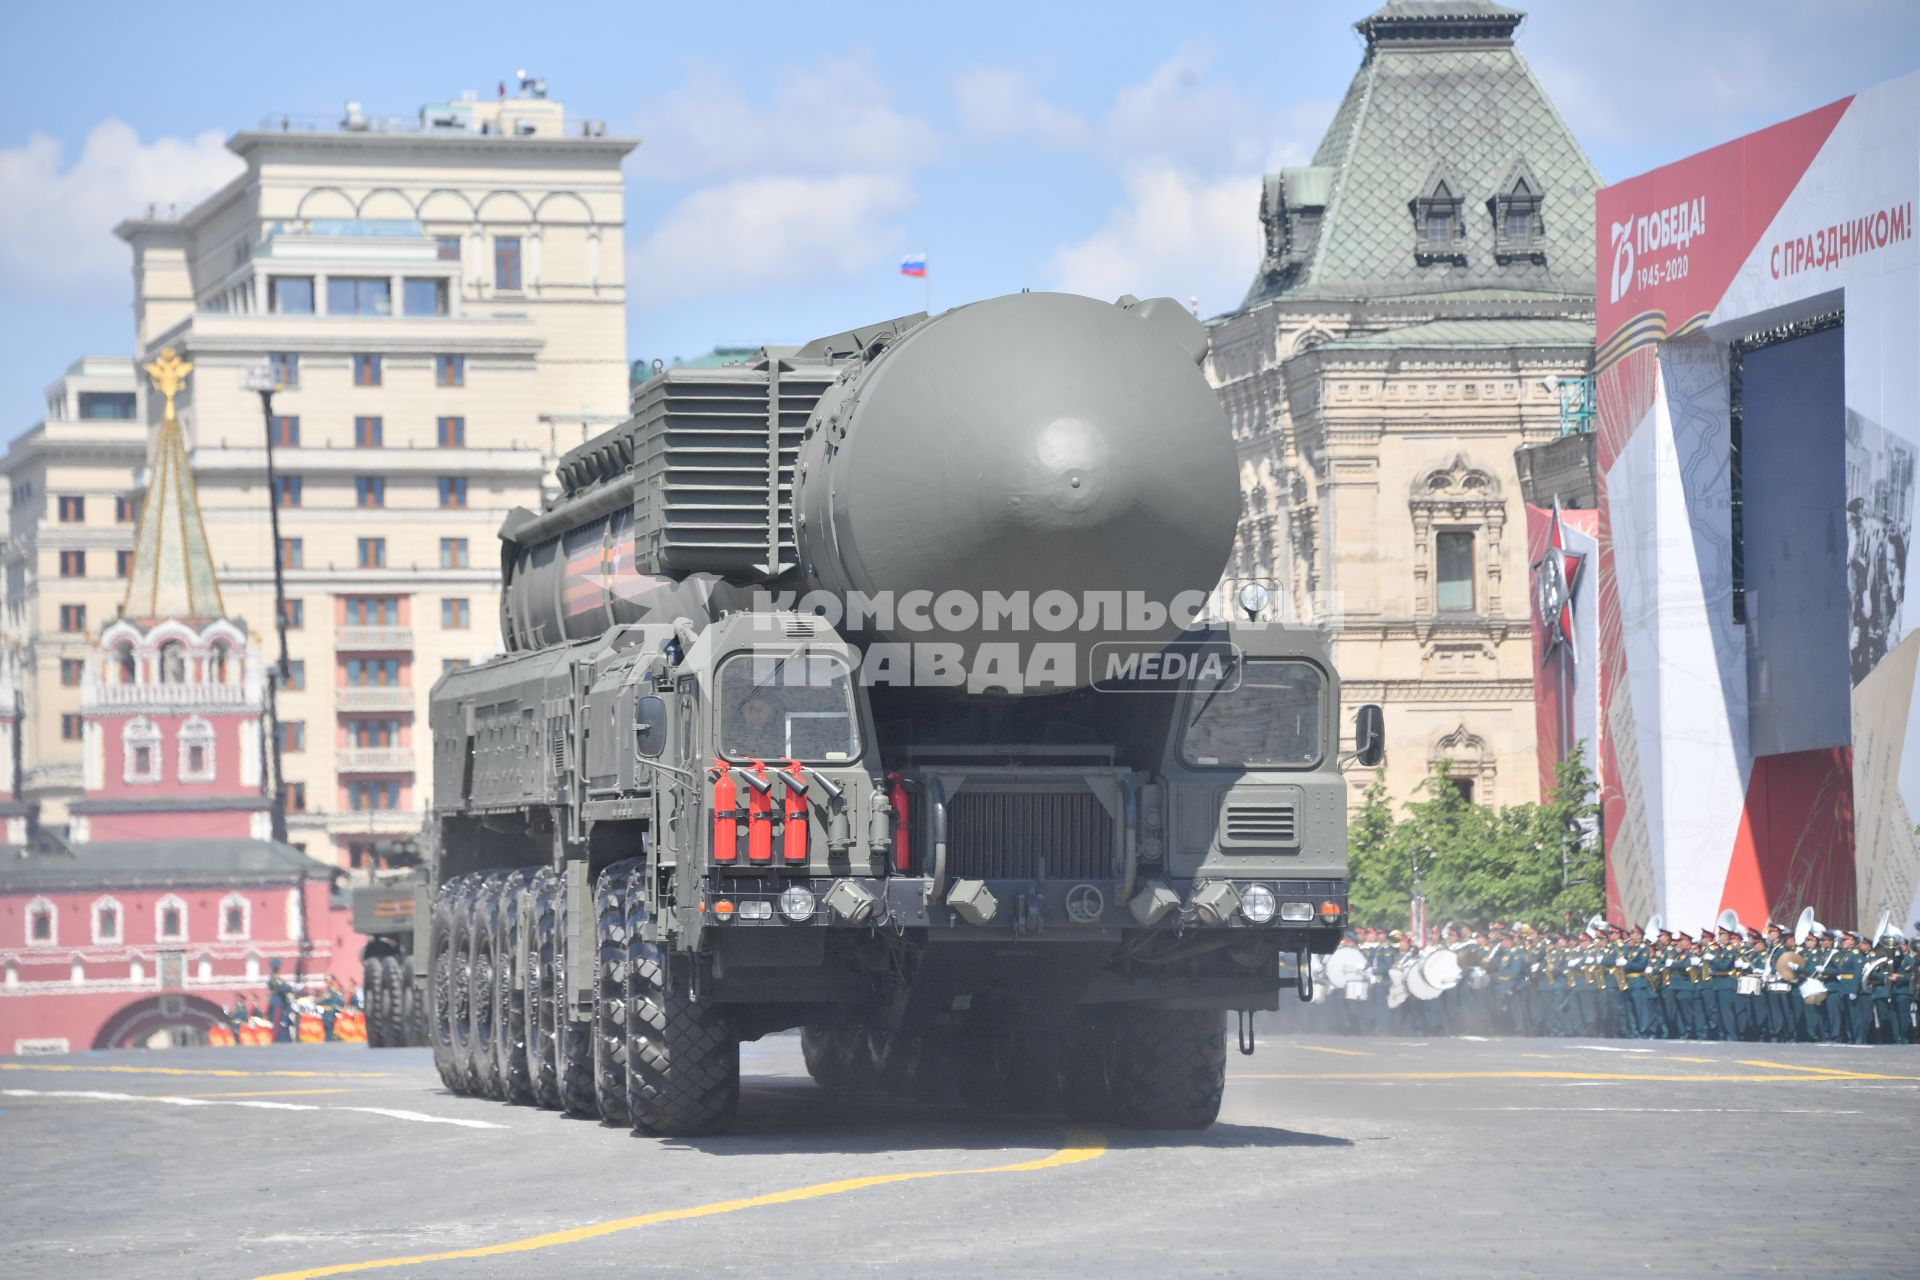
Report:
[[666,1138],[726,1132],[739,1109],[739,1036],[689,975],[641,935],[628,936],[626,1092],[634,1128]]

